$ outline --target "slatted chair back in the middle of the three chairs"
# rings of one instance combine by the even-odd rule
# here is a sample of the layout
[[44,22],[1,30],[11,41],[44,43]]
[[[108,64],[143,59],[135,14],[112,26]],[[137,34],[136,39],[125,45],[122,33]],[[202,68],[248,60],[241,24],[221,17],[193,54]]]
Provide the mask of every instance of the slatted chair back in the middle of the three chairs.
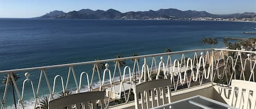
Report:
[[170,103],[170,86],[169,79],[152,80],[136,85],[134,94],[135,108],[152,108]]

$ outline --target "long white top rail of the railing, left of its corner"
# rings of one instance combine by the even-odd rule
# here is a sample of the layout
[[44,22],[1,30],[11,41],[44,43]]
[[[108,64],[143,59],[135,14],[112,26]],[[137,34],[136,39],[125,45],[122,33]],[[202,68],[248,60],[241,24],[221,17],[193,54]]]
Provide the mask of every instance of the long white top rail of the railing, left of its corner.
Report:
[[42,67],[31,67],[31,68],[21,68],[21,69],[0,70],[0,73],[10,73],[10,72],[15,73],[15,72],[28,71],[28,70],[36,70],[36,69],[49,69],[49,68],[57,68],[57,67],[89,65],[89,64],[93,64],[93,63],[112,62],[112,61],[119,61],[119,60],[131,60],[131,59],[142,58],[142,57],[162,56],[162,55],[171,55],[171,54],[179,54],[179,53],[189,53],[189,52],[200,52],[200,51],[203,51],[203,50],[213,50],[213,49],[212,48],[210,48],[210,49],[193,49],[193,50],[183,50],[183,51],[169,52],[169,53],[158,53],[158,54],[122,57],[122,58],[118,58],[118,59],[106,59],[106,60],[99,60],[99,61],[67,63],[67,64],[62,64],[62,65],[52,65],[52,66],[42,66]]

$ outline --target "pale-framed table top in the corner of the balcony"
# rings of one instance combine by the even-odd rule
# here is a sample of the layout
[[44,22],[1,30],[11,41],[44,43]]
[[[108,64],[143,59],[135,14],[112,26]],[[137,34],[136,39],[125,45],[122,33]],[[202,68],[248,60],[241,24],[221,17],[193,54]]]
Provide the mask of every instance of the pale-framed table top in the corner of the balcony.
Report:
[[[190,97],[183,100],[178,100],[175,102],[171,102],[170,104],[166,104],[163,106],[154,107],[154,109],[182,109],[182,108],[189,108],[189,109],[233,109],[235,107],[229,106],[227,104],[223,104],[222,102],[215,101],[209,98],[202,97],[200,95]],[[235,108],[236,109],[236,108]]]

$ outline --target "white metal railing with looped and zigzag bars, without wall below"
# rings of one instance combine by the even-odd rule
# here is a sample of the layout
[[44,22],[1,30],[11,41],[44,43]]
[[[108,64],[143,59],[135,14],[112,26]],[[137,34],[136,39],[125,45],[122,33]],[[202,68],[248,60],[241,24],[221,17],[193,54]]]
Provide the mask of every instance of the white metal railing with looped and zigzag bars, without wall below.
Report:
[[[211,52],[211,53],[210,53]],[[229,56],[228,52],[234,53],[235,56]],[[186,58],[185,54],[193,54]],[[200,55],[198,54],[200,53]],[[150,55],[141,55],[141,56],[132,56],[132,57],[122,57],[118,59],[108,59],[108,60],[99,60],[99,61],[88,61],[88,62],[79,62],[79,63],[68,63],[64,65],[53,65],[53,66],[44,66],[44,67],[33,67],[33,68],[22,68],[22,69],[11,69],[11,70],[2,70],[0,74],[8,74],[7,82],[5,84],[5,89],[3,93],[3,99],[1,100],[1,108],[7,107],[5,105],[5,100],[7,97],[7,90],[10,87],[10,81],[13,82],[16,96],[18,97],[18,108],[27,108],[23,101],[23,94],[26,92],[25,84],[29,82],[28,85],[31,85],[33,97],[34,98],[34,108],[40,107],[41,97],[39,94],[40,88],[47,88],[49,90],[49,100],[56,98],[56,81],[61,81],[61,90],[64,93],[68,89],[70,76],[74,78],[75,92],[80,93],[82,88],[82,83],[87,82],[88,91],[103,91],[106,85],[110,87],[110,91],[118,93],[117,96],[121,97],[121,93],[127,93],[125,91],[124,83],[129,82],[129,91],[128,94],[124,94],[125,102],[128,102],[129,95],[132,93],[132,89],[136,82],[150,81],[153,78],[152,75],[156,75],[156,79],[160,78],[160,73],[163,72],[165,79],[170,79],[172,90],[177,91],[179,87],[181,88],[190,88],[192,86],[200,86],[206,82],[216,82],[221,80],[225,84],[230,85],[231,79],[242,79],[248,81],[254,81],[254,68],[255,63],[251,58],[251,55],[247,55],[246,58],[242,58],[242,54],[256,54],[256,52],[243,51],[243,50],[230,50],[230,49],[194,49],[194,50],[184,50],[179,52],[170,52],[170,53],[159,53],[159,54],[150,54]],[[179,59],[173,59],[173,55],[181,55]],[[226,57],[227,56],[227,57]],[[164,58],[166,58],[164,60]],[[139,62],[138,60],[144,60],[144,62]],[[132,60],[132,64],[128,66],[121,66],[121,61]],[[149,62],[148,62],[149,61]],[[159,62],[158,62],[159,61]],[[109,67],[109,65],[114,62],[114,67]],[[245,68],[248,67],[251,70],[249,73],[249,78],[246,79]],[[103,76],[100,74],[99,63],[106,63],[105,69],[103,71]],[[240,66],[240,65],[241,66]],[[79,81],[76,78],[76,73],[74,66],[82,65],[93,65],[92,72],[87,72],[87,69],[84,69],[84,72],[79,73]],[[150,67],[148,65],[151,65]],[[236,66],[241,67],[240,78],[236,78]],[[58,73],[56,76],[47,76],[46,70],[52,68],[62,68],[69,67],[66,85],[63,81],[63,76],[61,73]],[[228,68],[231,68],[228,72]],[[223,70],[221,70],[223,69]],[[34,82],[32,79],[29,79],[29,72],[31,70],[40,70],[40,76],[37,84],[37,89],[35,90]],[[221,72],[223,71],[223,72]],[[23,81],[22,86],[17,86],[13,74],[17,72],[26,73],[26,79]],[[34,73],[33,73],[34,74]],[[97,77],[94,74],[98,75]],[[37,73],[36,75],[39,75]],[[91,76],[90,76],[91,75]],[[118,81],[116,78],[120,77]],[[41,87],[41,81],[45,79],[47,87]],[[53,80],[53,83],[50,83],[49,79]],[[99,82],[99,88],[93,88],[95,80]],[[107,81],[108,80],[108,81]],[[138,81],[137,81],[138,80]],[[51,86],[53,85],[53,86]],[[115,92],[115,86],[120,85],[118,92]],[[19,92],[19,88],[22,87],[22,92]],[[106,107],[108,107],[113,101],[110,97],[106,101]],[[116,95],[114,95],[116,96]],[[118,97],[116,97],[118,98]]]

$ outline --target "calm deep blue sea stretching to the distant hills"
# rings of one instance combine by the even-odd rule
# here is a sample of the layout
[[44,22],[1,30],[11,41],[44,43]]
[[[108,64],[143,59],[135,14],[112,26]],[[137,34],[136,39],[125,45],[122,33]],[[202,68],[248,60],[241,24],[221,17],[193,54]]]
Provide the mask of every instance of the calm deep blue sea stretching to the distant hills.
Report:
[[[242,34],[255,31],[256,23],[217,21],[143,21],[143,20],[39,20],[0,19],[0,70],[59,65],[172,51],[201,49],[202,37],[218,39],[216,48],[223,48],[222,37],[255,37]],[[208,46],[206,46],[208,47]],[[130,63],[127,63],[128,65]],[[92,70],[92,65],[75,67],[78,72]],[[66,78],[68,68],[47,70],[50,84],[57,74]],[[19,91],[25,72],[18,73]],[[40,70],[29,71],[36,91]],[[0,74],[1,80],[5,74]],[[70,88],[74,80],[70,80]],[[45,80],[40,88],[40,97],[49,94]],[[64,85],[65,85],[64,81]],[[97,82],[97,80],[96,80]],[[33,108],[31,86],[26,84],[24,102]],[[61,85],[57,86],[60,91]],[[56,92],[57,92],[56,91]],[[4,85],[0,85],[0,99]],[[15,93],[16,94],[16,93]],[[17,100],[17,96],[16,96]],[[17,103],[17,102],[16,102]],[[12,88],[8,88],[6,105],[13,108]]]

